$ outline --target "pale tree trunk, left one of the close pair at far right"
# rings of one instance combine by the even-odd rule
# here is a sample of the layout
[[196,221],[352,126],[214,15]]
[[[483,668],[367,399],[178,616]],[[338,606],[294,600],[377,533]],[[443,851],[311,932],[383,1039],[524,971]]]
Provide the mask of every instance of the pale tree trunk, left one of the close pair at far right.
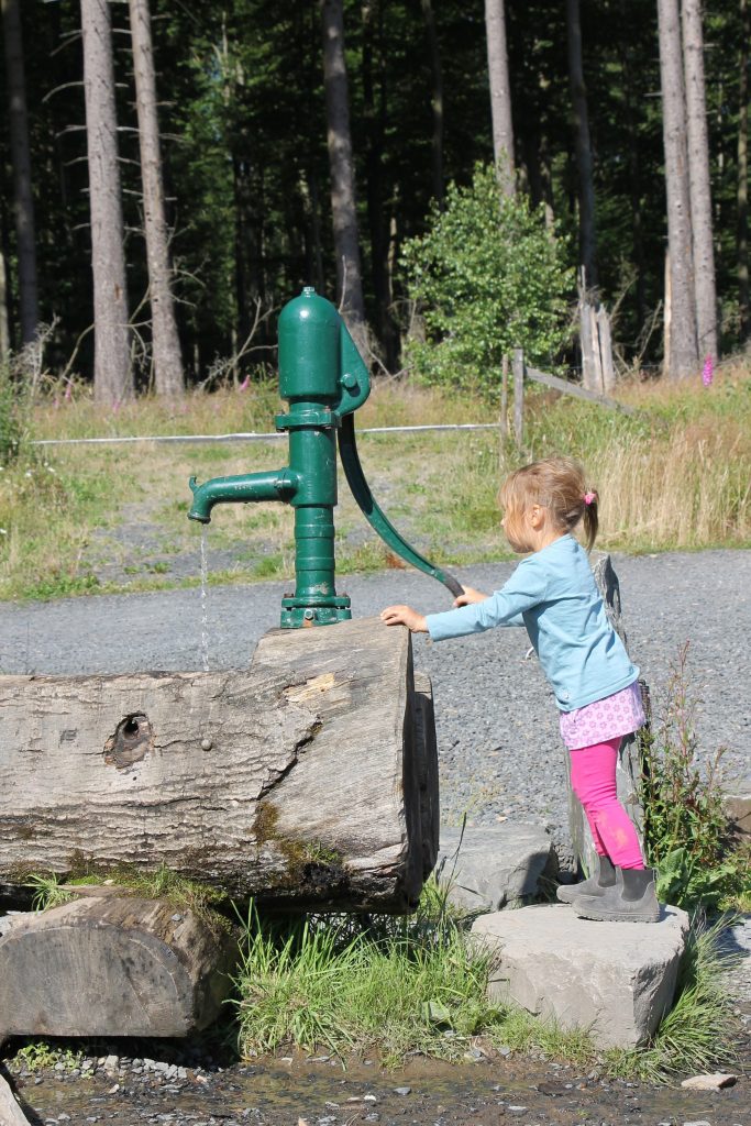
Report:
[[676,379],[696,375],[698,368],[686,98],[678,0],[658,0],[658,24],[672,307],[668,375]]

